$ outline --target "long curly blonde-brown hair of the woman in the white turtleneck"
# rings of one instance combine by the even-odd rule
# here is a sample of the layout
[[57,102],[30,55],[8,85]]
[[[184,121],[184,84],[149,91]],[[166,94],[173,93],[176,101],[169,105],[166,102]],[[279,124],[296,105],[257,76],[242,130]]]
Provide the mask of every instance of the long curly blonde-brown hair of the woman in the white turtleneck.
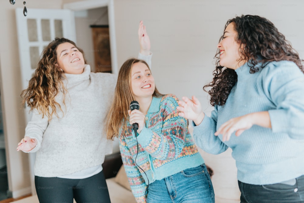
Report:
[[47,116],[49,120],[53,117],[53,114],[58,117],[57,108],[63,112],[60,104],[55,99],[59,91],[64,94],[63,104],[65,105],[66,88],[63,84],[65,76],[55,64],[57,63],[56,49],[58,45],[66,42],[73,44],[84,55],[83,51],[73,41],[56,37],[43,50],[34,75],[29,80],[28,88],[21,93],[23,105],[27,103],[30,111],[36,109],[39,114],[42,114],[42,117]]

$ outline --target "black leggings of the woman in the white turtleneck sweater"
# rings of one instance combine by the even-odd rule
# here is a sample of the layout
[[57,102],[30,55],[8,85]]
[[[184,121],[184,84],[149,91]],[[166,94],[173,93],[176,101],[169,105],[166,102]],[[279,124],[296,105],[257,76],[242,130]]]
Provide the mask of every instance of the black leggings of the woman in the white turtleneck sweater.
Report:
[[35,176],[35,186],[40,203],[110,202],[102,171],[84,179]]

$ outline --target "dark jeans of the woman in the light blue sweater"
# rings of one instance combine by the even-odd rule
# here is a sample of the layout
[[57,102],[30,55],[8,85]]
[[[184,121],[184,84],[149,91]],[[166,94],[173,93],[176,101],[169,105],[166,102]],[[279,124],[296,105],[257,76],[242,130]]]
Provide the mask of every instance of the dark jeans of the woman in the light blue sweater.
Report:
[[304,175],[296,178],[294,185],[277,183],[252,185],[239,182],[241,203],[303,203]]

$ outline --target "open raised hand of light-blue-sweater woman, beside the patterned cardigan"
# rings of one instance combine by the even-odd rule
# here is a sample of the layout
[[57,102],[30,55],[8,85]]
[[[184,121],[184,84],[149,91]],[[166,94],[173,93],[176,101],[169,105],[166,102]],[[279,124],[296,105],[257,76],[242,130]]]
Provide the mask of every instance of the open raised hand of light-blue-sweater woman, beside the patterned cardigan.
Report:
[[179,116],[192,120],[195,125],[199,125],[203,121],[205,114],[202,112],[201,103],[195,96],[192,96],[192,100],[183,96],[182,100],[178,101],[178,105]]

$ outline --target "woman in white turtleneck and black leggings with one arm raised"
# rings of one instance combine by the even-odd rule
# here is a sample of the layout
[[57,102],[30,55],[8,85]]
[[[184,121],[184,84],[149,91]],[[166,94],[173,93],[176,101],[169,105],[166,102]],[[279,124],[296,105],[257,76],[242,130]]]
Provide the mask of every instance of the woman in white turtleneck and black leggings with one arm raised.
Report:
[[17,148],[37,152],[40,202],[110,202],[102,163],[112,153],[104,122],[115,86],[116,75],[91,72],[73,41],[56,38],[44,49],[22,91],[33,117]]

